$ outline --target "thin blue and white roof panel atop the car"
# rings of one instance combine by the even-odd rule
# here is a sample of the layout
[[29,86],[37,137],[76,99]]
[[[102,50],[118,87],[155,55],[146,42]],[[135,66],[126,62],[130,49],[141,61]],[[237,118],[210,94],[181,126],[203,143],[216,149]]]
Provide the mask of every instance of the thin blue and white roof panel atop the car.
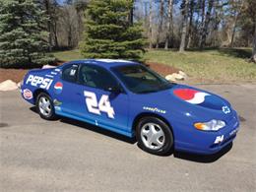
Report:
[[104,68],[111,68],[115,66],[138,65],[140,63],[122,59],[84,59],[71,61],[69,64],[95,64]]

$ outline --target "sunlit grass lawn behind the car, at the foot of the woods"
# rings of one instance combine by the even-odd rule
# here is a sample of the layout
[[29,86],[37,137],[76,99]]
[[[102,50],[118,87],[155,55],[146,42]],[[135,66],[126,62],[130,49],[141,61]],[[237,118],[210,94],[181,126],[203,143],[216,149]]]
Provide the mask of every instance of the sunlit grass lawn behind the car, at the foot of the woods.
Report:
[[[181,69],[196,81],[256,82],[256,64],[247,62],[250,49],[206,49],[179,53],[175,50],[146,52],[146,61],[158,62]],[[79,50],[55,52],[62,61],[83,59]]]

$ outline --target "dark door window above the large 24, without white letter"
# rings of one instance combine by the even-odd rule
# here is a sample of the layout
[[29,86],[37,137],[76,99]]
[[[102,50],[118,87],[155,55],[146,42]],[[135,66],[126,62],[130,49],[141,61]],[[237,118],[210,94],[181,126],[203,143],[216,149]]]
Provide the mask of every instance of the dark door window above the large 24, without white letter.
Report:
[[101,90],[118,86],[116,80],[108,71],[93,65],[83,65],[80,68],[79,82],[85,86]]

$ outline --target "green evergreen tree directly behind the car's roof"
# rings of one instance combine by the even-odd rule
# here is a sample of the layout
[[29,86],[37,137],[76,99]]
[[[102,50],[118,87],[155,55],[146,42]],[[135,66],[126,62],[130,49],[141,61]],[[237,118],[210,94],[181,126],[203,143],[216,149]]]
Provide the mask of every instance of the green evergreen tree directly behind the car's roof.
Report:
[[86,11],[81,52],[88,58],[140,59],[145,39],[129,15],[133,0],[92,0]]

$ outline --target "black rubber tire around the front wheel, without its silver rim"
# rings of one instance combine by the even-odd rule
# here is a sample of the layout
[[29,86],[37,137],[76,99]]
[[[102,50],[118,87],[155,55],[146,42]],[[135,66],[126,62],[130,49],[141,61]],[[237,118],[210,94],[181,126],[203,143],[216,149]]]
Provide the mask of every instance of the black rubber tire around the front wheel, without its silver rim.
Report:
[[[160,127],[161,131],[164,134],[164,139],[161,139],[162,146],[160,145],[161,147],[160,146],[156,147],[159,149],[152,149],[145,144],[145,143],[147,143],[146,140],[147,140],[148,136],[143,136],[144,133],[142,133],[142,129],[145,129],[144,131],[146,131],[147,128],[144,128],[144,127],[147,127],[152,124],[154,124],[154,126],[156,125],[157,128]],[[166,156],[166,155],[170,155],[173,151],[172,131],[171,131],[170,127],[165,122],[163,122],[162,120],[160,120],[160,118],[157,118],[157,117],[149,116],[149,117],[143,117],[142,119],[139,120],[139,122],[137,123],[137,126],[136,126],[136,139],[138,142],[138,146],[142,150],[144,150],[145,152],[148,152],[150,154],[153,154],[153,155]],[[150,146],[154,147],[154,143],[153,143],[153,145],[150,145]]]

